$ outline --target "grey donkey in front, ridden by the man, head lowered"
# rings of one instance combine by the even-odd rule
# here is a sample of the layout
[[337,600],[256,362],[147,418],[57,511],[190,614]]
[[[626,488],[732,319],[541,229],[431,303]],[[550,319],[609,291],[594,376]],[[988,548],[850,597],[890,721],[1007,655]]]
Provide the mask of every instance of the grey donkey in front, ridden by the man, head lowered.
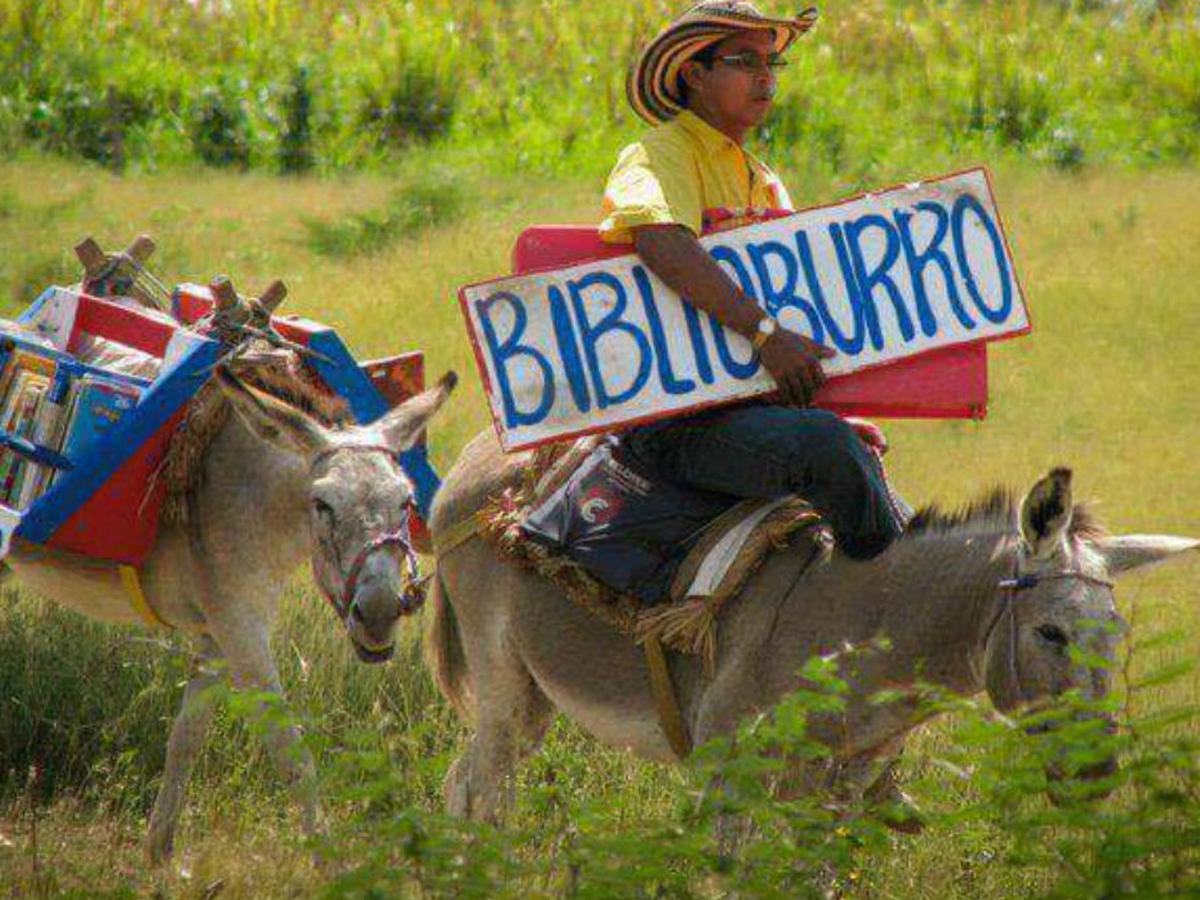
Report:
[[[434,547],[527,463],[503,456],[493,437],[476,438],[434,503]],[[1056,469],[1019,505],[997,493],[959,515],[928,510],[870,562],[834,552],[802,571],[806,551],[774,554],[725,606],[712,676],[696,658],[671,660],[692,738],[728,734],[769,709],[800,685],[805,660],[887,637],[889,650],[858,654],[844,672],[845,714],[815,724],[835,766],[796,773],[793,784],[902,802],[888,761],[922,714],[906,700],[870,702],[878,691],[918,680],[960,695],[986,690],[1002,710],[1072,688],[1103,696],[1109,673],[1074,665],[1068,647],[1111,659],[1122,625],[1112,578],[1200,541],[1105,536],[1073,508],[1070,493],[1070,472]],[[443,694],[475,725],[446,779],[452,814],[502,815],[512,769],[536,748],[554,709],[611,745],[673,758],[641,649],[550,582],[500,562],[482,540],[439,557],[431,607],[427,661]]]

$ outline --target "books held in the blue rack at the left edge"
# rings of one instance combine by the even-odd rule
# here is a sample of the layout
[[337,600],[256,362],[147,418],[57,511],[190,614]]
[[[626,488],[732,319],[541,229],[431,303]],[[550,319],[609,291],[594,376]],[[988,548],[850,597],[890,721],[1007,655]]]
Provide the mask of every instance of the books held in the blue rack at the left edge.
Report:
[[59,476],[50,461],[84,460],[137,406],[142,389],[19,344],[0,365],[0,503],[24,510]]

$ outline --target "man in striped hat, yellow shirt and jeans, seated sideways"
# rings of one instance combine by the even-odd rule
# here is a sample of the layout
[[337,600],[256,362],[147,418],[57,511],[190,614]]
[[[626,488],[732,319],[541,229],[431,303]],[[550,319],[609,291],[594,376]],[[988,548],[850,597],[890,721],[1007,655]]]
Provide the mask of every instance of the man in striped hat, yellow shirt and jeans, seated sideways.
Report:
[[629,101],[654,127],[608,176],[600,235],[631,242],[646,265],[692,306],[752,341],[779,386],[751,402],[631,430],[636,464],[739,498],[800,494],[854,558],[882,552],[907,510],[889,493],[872,450],[882,436],[809,407],[834,350],[790,331],[704,251],[698,236],[791,210],[779,176],[744,144],[762,124],[784,53],[816,20],[762,16],[745,0],[704,0],[667,26],[630,72]]

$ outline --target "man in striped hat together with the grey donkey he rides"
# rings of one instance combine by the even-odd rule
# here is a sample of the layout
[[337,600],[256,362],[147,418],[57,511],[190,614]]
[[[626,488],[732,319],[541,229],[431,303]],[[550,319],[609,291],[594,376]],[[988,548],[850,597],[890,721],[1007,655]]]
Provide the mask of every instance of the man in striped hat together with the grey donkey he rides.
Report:
[[[504,454],[488,431],[443,481],[430,523],[438,570],[426,660],[443,695],[474,726],[446,776],[455,815],[502,815],[515,767],[556,712],[612,746],[679,758],[692,740],[730,734],[800,686],[812,656],[887,636],[886,653],[856,660],[846,710],[812,724],[830,748],[828,767],[817,761],[800,774],[895,802],[893,824],[917,827],[894,772],[905,736],[925,713],[906,695],[876,702],[880,691],[919,680],[966,696],[986,691],[1002,710],[1068,690],[1102,698],[1109,671],[1076,665],[1066,648],[1111,660],[1120,625],[1114,580],[1200,547],[1169,535],[1104,535],[1074,506],[1064,468],[1020,500],[996,494],[959,515],[930,508],[907,522],[883,479],[877,433],[869,443],[858,434],[872,437],[870,428],[856,431],[808,408],[823,380],[821,360],[832,353],[782,329],[697,238],[790,206],[779,179],[743,142],[770,107],[780,54],[814,16],[770,19],[742,0],[707,0],[655,37],[629,83],[634,108],[655,127],[622,154],[600,226],[606,240],[632,242],[692,306],[751,340],[780,402],[643,425],[557,457],[539,458],[540,449]],[[605,468],[598,458],[612,463],[611,480],[588,488],[588,467]],[[666,577],[652,564],[642,580],[625,571],[629,559],[646,562],[637,557],[642,535],[630,538],[642,526],[648,539],[659,528],[665,545],[664,532],[685,533],[679,520],[700,527],[706,510],[728,520],[749,503],[799,503],[779,499],[788,494],[817,509],[838,552],[824,553],[822,541],[791,541],[748,563],[728,594],[726,576],[715,594],[696,593],[716,568],[707,568],[709,558],[688,584],[695,552],[682,563],[678,554],[670,559],[678,571]],[[638,512],[646,508],[653,509]],[[702,550],[712,532],[694,532],[686,535]],[[480,535],[491,540],[475,540]],[[613,551],[622,539],[626,546]],[[782,544],[760,546],[766,553]],[[497,550],[529,565],[497,565]],[[613,618],[617,629],[596,626],[592,613],[606,617],[601,601],[617,605],[613,588],[623,578],[616,601],[640,607],[670,595],[685,602],[636,608],[632,629]],[[599,582],[607,596],[595,590]],[[697,606],[712,617],[709,600],[734,596],[721,610],[719,653],[715,642],[685,648],[642,629],[647,619],[656,625],[660,616]],[[660,637],[684,652],[667,658]]]

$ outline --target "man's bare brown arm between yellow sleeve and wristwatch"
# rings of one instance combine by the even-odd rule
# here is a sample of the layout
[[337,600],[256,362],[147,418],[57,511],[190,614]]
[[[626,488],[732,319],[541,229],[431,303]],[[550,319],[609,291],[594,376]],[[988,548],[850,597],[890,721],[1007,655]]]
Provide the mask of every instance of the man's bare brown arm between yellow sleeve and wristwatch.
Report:
[[683,226],[644,226],[634,230],[634,248],[649,268],[692,306],[722,325],[752,337],[762,310],[749,300]]

